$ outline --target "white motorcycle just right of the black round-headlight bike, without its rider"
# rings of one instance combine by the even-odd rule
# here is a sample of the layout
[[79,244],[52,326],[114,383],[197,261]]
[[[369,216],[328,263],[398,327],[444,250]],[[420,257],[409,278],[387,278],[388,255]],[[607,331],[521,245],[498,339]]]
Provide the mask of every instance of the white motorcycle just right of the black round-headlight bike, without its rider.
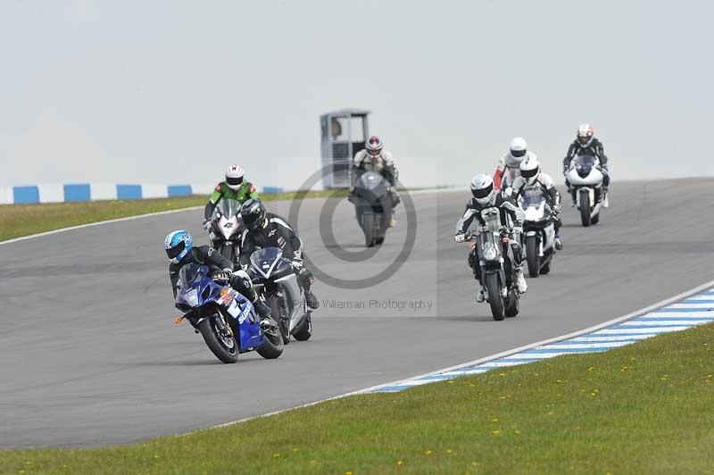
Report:
[[555,255],[555,224],[552,210],[540,188],[526,189],[519,198],[526,214],[523,221],[523,247],[526,251],[528,276],[538,277],[551,271]]

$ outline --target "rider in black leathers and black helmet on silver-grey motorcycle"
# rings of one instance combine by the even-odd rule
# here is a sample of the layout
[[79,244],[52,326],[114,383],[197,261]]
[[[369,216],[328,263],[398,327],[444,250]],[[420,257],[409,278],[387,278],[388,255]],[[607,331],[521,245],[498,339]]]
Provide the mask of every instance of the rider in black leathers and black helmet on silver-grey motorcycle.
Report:
[[251,254],[263,247],[279,247],[283,257],[292,261],[293,271],[305,291],[305,301],[311,309],[320,307],[320,301],[312,293],[311,287],[315,278],[311,271],[303,265],[303,241],[295,234],[285,218],[267,212],[265,205],[257,198],[246,201],[240,209],[240,215],[245,224],[241,242],[241,265],[247,269]]

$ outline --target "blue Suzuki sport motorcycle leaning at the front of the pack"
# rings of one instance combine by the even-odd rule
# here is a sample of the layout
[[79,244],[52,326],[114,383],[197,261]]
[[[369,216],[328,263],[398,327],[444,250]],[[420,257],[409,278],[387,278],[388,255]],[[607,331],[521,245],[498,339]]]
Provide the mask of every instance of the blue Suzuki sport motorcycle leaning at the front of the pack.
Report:
[[179,271],[176,319],[189,321],[221,362],[237,362],[238,354],[257,351],[263,358],[278,358],[283,339],[272,319],[260,321],[253,304],[228,286],[229,275],[211,276],[208,266],[190,263]]

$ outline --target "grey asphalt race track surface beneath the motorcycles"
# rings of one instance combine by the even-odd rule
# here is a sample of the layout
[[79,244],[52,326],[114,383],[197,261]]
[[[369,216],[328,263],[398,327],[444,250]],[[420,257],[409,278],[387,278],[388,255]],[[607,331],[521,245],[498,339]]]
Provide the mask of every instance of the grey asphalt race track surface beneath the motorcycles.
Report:
[[[475,303],[467,251],[452,242],[468,192],[412,196],[417,238],[400,271],[356,290],[319,282],[320,300],[345,308],[323,302],[314,337],[286,346],[278,360],[246,354],[233,365],[218,362],[186,323],[172,321],[163,237],[188,228],[204,243],[202,211],[0,246],[0,448],[102,446],[184,433],[436,371],[635,311],[712,279],[712,187],[714,179],[616,184],[612,206],[589,229],[580,227],[566,197],[565,250],[550,275],[528,279],[521,315],[501,322]],[[331,254],[334,245],[321,242],[324,204],[306,200],[297,226],[322,271],[367,278],[399,254],[403,207],[378,254],[344,262]],[[270,207],[287,215],[289,203]],[[346,202],[336,206],[332,228],[347,251],[361,250]],[[392,300],[394,308],[370,300]]]

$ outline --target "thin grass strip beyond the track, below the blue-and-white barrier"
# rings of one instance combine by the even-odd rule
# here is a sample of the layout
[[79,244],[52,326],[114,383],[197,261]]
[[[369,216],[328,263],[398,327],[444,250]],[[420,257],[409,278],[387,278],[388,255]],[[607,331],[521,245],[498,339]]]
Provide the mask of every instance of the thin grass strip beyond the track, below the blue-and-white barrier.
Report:
[[[262,195],[264,201],[291,200],[295,196],[314,198],[346,196],[344,190],[288,192]],[[114,220],[147,212],[203,206],[208,196],[145,199],[133,201],[88,201],[81,203],[0,205],[0,241],[90,222]]]

